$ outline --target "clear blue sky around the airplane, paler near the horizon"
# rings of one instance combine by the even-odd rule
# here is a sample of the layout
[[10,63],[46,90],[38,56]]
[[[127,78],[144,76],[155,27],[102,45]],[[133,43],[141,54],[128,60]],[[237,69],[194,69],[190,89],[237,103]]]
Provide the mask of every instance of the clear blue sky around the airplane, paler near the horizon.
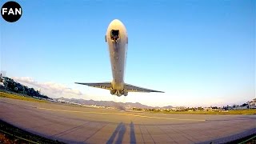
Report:
[[[1,1],[1,6],[7,1]],[[255,98],[256,1],[15,1],[22,18],[0,18],[0,69],[51,98],[226,106]],[[110,82],[107,26],[129,37],[125,82],[160,93],[129,93],[74,82]]]

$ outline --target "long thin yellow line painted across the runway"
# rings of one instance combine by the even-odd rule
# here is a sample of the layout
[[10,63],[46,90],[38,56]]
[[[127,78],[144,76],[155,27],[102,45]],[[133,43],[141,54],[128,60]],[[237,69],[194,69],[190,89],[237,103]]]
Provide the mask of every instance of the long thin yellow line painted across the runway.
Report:
[[40,110],[53,110],[53,111],[62,111],[62,112],[70,112],[70,113],[82,113],[82,114],[118,114],[118,115],[126,115],[126,116],[134,116],[134,117],[141,117],[141,118],[156,118],[156,119],[168,119],[168,120],[180,120],[180,121],[199,121],[205,122],[205,119],[182,119],[182,118],[163,118],[163,117],[152,117],[146,115],[138,115],[138,114],[124,114],[124,113],[106,113],[106,112],[88,112],[88,111],[75,111],[75,110],[58,110],[58,109],[48,109],[43,107],[38,107]]

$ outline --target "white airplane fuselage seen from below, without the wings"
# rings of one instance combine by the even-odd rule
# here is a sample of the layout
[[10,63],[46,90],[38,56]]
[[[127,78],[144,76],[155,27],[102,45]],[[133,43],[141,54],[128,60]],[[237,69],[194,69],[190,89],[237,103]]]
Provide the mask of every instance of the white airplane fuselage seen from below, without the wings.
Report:
[[[117,36],[118,35],[118,36]],[[114,38],[114,36],[118,38]],[[110,62],[113,80],[111,82],[113,93],[126,93],[124,90],[124,74],[128,49],[128,34],[126,27],[118,19],[110,22],[106,30],[106,42],[110,52]]]

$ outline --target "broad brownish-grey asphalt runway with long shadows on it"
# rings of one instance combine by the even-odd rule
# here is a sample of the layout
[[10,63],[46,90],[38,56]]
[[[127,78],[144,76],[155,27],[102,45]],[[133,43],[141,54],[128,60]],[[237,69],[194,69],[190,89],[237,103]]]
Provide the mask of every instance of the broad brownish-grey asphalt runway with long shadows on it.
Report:
[[256,115],[150,114],[0,98],[0,118],[67,143],[222,143],[256,134]]

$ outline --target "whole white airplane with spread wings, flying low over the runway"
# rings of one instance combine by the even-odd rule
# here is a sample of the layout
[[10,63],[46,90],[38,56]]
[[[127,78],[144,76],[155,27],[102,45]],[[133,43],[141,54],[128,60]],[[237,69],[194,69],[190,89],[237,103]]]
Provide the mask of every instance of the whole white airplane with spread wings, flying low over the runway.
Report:
[[118,97],[122,95],[127,96],[128,92],[164,93],[158,90],[150,90],[138,86],[133,86],[124,82],[126,56],[128,49],[128,34],[126,31],[126,26],[124,26],[120,20],[114,19],[112,22],[110,22],[110,25],[106,30],[105,41],[107,42],[110,51],[110,62],[113,76],[112,82],[75,82],[76,84],[110,90],[110,94],[117,95]]

